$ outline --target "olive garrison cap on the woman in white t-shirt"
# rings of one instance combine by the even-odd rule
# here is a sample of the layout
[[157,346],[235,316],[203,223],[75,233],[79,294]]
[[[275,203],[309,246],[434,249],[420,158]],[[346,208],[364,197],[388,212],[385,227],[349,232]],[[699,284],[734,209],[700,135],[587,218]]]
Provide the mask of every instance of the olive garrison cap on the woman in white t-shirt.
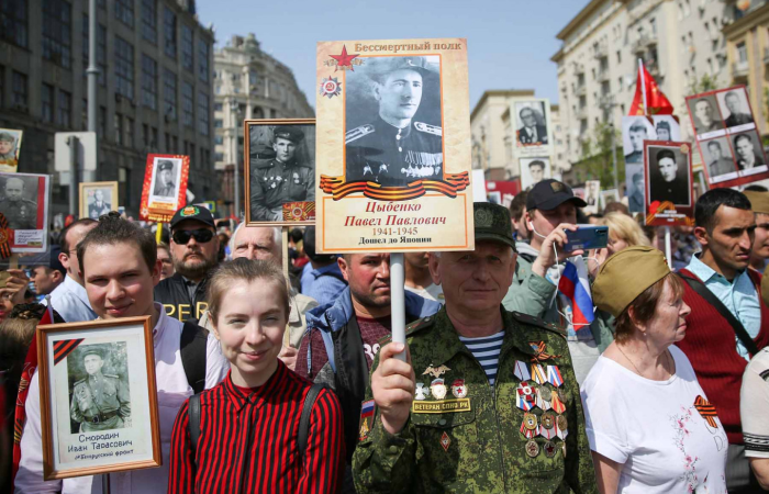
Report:
[[[592,285],[593,303],[617,317],[647,288],[670,272],[661,250],[643,245],[627,247],[601,266]],[[629,280],[633,282],[628,283]]]

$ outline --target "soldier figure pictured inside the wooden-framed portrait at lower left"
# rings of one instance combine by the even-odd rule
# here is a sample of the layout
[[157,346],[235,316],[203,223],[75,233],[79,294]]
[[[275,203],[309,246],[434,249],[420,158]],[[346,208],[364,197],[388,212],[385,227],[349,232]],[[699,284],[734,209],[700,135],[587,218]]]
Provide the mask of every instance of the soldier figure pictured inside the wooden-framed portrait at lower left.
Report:
[[102,374],[101,350],[91,347],[82,356],[88,377],[75,383],[69,415],[80,423],[81,433],[120,429],[131,416],[129,388],[119,377]]

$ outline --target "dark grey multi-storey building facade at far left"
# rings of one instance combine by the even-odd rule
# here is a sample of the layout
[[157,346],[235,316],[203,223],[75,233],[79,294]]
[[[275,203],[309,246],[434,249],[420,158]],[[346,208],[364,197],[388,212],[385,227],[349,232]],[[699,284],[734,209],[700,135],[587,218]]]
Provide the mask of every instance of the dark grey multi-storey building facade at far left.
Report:
[[[146,155],[190,156],[196,201],[219,195],[213,167],[213,43],[193,0],[98,0],[98,169],[138,215]],[[53,175],[52,216],[68,213],[54,134],[88,128],[88,0],[3,0],[0,126],[24,131],[20,172]],[[75,212],[73,212],[75,213]]]

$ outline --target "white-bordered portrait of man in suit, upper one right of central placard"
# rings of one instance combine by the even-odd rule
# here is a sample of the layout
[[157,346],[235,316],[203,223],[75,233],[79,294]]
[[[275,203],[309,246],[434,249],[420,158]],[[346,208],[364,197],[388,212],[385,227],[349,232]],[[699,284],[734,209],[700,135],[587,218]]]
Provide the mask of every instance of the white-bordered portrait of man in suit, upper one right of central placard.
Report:
[[515,132],[515,154],[519,156],[550,156],[550,101],[532,99],[512,101],[510,111]]

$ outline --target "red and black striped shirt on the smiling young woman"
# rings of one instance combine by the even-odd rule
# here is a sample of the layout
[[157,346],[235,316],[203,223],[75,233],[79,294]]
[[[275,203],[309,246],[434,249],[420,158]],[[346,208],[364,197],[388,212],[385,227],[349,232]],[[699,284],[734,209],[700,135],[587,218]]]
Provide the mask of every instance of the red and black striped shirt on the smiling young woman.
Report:
[[312,408],[300,462],[299,419],[311,385],[280,361],[272,377],[253,390],[236,386],[227,374],[200,395],[197,450],[185,402],[171,436],[168,493],[337,492],[345,469],[343,415],[328,390]]

